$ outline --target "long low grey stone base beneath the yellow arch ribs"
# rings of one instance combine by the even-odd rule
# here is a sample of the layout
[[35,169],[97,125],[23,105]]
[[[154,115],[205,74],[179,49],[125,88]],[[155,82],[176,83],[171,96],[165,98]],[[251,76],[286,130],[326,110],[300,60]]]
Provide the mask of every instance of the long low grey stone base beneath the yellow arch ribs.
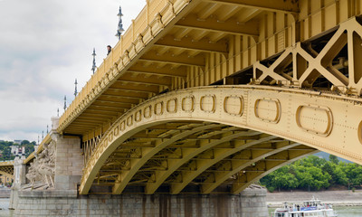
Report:
[[76,191],[19,192],[16,217],[266,217],[265,190],[241,194],[123,194],[77,196]]

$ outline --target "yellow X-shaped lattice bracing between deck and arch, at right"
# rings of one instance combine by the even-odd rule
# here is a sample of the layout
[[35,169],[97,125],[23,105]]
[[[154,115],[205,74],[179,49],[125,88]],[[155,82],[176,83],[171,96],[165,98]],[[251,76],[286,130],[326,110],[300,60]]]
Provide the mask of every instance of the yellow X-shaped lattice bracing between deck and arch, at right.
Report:
[[354,17],[321,40],[298,42],[275,60],[253,64],[253,84],[362,94],[362,26]]

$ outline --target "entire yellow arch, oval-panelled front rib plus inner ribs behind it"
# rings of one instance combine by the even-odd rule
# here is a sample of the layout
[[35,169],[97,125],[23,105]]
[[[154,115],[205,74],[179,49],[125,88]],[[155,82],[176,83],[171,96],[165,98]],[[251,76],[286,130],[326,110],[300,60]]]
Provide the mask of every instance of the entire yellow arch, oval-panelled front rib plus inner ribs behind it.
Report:
[[[133,184],[143,182],[145,193],[164,183],[170,193],[180,193],[200,176],[202,193],[226,181],[233,181],[232,192],[238,193],[316,149],[361,164],[361,111],[360,99],[310,90],[248,85],[168,92],[114,122],[88,157],[80,193],[88,193],[100,177],[113,179],[112,193],[122,193],[135,175]],[[151,137],[160,127],[167,130]],[[180,141],[183,147],[177,149]],[[157,156],[161,150],[171,154]],[[149,161],[164,169],[152,170]],[[117,164],[122,169],[110,169]],[[214,171],[207,171],[212,166]]]

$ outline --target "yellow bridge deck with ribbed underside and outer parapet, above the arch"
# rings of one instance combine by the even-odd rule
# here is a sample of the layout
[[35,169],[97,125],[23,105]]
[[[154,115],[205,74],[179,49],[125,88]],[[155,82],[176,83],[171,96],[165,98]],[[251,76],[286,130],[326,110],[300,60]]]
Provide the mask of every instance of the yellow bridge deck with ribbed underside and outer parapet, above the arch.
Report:
[[[162,90],[247,83],[252,76],[230,77],[327,33],[358,15],[360,7],[349,0],[148,1],[66,110],[58,130],[90,140]],[[338,89],[348,86],[335,83]]]

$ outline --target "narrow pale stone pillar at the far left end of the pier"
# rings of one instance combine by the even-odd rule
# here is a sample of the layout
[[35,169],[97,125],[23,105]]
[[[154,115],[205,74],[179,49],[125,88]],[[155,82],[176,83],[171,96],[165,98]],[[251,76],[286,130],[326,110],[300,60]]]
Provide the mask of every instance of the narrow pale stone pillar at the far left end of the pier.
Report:
[[18,191],[26,182],[26,165],[23,164],[25,156],[15,156],[14,159],[14,184],[10,193],[9,209],[14,209],[18,202]]

